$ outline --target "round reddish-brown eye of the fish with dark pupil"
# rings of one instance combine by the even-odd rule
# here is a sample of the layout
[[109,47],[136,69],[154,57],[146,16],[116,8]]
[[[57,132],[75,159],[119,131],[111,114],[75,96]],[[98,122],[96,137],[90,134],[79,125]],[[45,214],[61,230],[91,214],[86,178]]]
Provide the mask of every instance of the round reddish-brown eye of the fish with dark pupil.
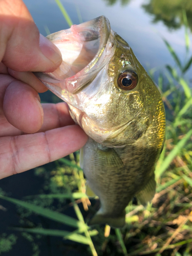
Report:
[[130,91],[137,86],[138,76],[132,70],[125,70],[119,75],[117,82],[122,90]]

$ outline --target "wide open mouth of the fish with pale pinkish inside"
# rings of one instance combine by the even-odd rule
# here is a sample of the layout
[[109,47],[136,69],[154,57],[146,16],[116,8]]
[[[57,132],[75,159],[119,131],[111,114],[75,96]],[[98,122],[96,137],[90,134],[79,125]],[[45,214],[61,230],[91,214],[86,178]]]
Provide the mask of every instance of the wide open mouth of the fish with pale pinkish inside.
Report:
[[100,16],[48,35],[47,38],[60,50],[62,63],[52,73],[34,74],[48,89],[64,100],[63,90],[77,94],[108,63],[113,47],[113,42],[109,40],[110,33],[109,20]]

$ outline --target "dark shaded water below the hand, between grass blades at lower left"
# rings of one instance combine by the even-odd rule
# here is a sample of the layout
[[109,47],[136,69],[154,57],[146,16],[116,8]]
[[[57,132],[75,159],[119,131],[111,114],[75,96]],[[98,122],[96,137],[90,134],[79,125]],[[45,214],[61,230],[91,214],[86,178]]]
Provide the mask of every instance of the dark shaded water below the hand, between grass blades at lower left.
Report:
[[[49,209],[57,210],[59,212],[65,211],[65,214],[76,218],[73,206],[69,205],[69,200],[53,200],[53,199],[39,199],[37,197],[30,197],[38,194],[53,194],[53,193],[65,193],[66,188],[61,184],[61,176],[63,176],[63,170],[57,161],[43,165],[39,168],[29,170],[28,172],[18,174],[15,176],[7,177],[0,181],[0,187],[5,191],[5,195],[16,198],[24,199],[27,202],[34,203],[36,205],[47,207]],[[53,172],[55,172],[53,174]],[[64,171],[65,172],[65,171]],[[68,182],[72,182],[71,170],[66,168],[66,172],[69,173]],[[75,187],[75,183],[70,184],[71,190]],[[28,198],[29,197],[29,198]],[[41,215],[35,215],[32,211],[27,210],[20,206],[15,206],[7,201],[0,200],[0,216],[1,216],[1,233],[0,238],[7,239],[8,250],[4,251],[6,246],[1,245],[0,239],[0,254],[15,256],[61,256],[61,255],[77,255],[86,256],[87,246],[72,242],[70,240],[63,240],[60,237],[54,236],[40,236],[33,235],[27,232],[14,231],[14,228],[35,228],[42,227],[45,229],[56,229],[74,231],[74,228],[68,225],[63,225],[58,222],[52,221]],[[80,206],[81,211],[83,209]],[[13,238],[11,236],[14,236]],[[10,245],[9,245],[10,240]],[[14,243],[13,241],[16,241]],[[13,249],[11,250],[11,243]],[[3,249],[2,249],[3,248]],[[2,250],[1,250],[2,249]],[[10,249],[10,250],[9,250]],[[7,253],[8,252],[8,253]]]

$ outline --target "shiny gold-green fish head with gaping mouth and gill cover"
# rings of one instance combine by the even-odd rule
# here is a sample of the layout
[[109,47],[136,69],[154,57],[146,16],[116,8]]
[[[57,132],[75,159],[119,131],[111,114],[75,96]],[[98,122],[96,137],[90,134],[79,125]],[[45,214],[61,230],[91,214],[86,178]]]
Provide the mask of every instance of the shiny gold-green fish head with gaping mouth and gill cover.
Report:
[[36,76],[68,103],[75,122],[102,146],[134,143],[154,119],[159,124],[164,118],[159,90],[107,18],[100,16],[48,39],[63,61],[56,71]]

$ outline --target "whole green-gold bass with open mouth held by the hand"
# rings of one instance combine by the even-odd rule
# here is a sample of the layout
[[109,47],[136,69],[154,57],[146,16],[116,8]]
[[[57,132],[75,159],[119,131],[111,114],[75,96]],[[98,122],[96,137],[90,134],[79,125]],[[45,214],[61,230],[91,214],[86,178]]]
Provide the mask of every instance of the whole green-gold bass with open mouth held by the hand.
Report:
[[100,16],[47,37],[62,54],[52,73],[36,73],[65,100],[89,136],[80,150],[88,195],[100,209],[90,224],[122,227],[134,196],[155,195],[155,164],[165,135],[165,111],[154,82],[132,49]]

